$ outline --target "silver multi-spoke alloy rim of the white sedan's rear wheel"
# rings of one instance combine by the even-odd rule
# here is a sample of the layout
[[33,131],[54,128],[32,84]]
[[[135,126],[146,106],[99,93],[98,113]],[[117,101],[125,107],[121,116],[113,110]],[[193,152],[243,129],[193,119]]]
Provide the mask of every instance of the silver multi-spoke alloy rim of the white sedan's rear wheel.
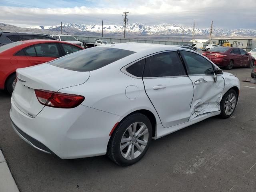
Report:
[[148,128],[142,122],[131,124],[124,132],[121,142],[120,151],[122,156],[127,160],[132,160],[140,156],[148,144]]

